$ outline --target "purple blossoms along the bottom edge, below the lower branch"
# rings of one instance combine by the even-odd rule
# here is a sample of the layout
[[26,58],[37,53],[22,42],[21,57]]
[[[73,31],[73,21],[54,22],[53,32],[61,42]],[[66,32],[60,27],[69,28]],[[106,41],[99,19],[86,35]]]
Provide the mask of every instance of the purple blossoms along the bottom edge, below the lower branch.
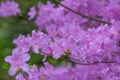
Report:
[[[116,67],[114,67],[116,66]],[[71,65],[53,67],[49,63],[44,63],[44,67],[38,69],[36,65],[27,72],[27,76],[19,73],[16,80],[119,80],[120,71],[119,65],[112,65],[109,67],[107,64],[99,65]],[[114,73],[116,70],[117,73]]]

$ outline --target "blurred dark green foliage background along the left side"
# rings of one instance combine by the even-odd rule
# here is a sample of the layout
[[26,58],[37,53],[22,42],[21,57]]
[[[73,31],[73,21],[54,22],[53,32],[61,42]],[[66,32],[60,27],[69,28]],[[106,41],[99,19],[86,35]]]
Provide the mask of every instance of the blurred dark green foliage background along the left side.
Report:
[[[0,2],[3,0],[0,0]],[[10,55],[15,45],[12,43],[19,34],[28,34],[37,26],[32,21],[28,21],[27,12],[33,5],[37,5],[39,0],[16,0],[20,3],[22,14],[15,17],[0,18],[0,80],[14,80],[8,75],[9,64],[4,58]]]

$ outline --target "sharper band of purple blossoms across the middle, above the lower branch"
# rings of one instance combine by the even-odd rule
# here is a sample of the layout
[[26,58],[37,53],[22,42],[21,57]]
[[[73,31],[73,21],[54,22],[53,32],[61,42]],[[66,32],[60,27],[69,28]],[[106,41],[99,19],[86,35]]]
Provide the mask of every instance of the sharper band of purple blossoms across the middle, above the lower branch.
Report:
[[[14,40],[17,48],[13,50],[11,56],[5,58],[6,62],[11,64],[9,74],[14,75],[18,69],[22,69],[29,75],[31,68],[30,65],[28,65],[26,62],[30,59],[30,56],[28,54],[30,50],[32,50],[34,53],[44,56],[53,56],[55,59],[60,58],[62,55],[66,55],[65,52],[69,50],[70,60],[73,62],[76,62],[77,59],[79,62],[89,64],[92,64],[94,62],[107,62],[108,60],[116,61],[117,63],[120,60],[120,56],[113,52],[114,50],[119,51],[119,47],[117,46],[117,41],[119,39],[119,26],[115,26],[115,24],[118,25],[118,23],[113,24],[114,26],[101,25],[97,29],[93,28],[88,29],[87,31],[84,31],[79,27],[70,29],[72,26],[64,26],[61,28],[63,30],[67,30],[67,34],[64,35],[64,31],[61,31],[60,28],[59,30],[61,33],[59,33],[58,36],[56,35],[55,38],[51,38],[48,34],[42,33],[40,31],[33,31],[32,35],[27,35],[27,37],[20,35],[17,39]],[[113,71],[112,73],[116,72]],[[36,77],[38,76],[36,72],[33,74],[36,74]],[[40,74],[42,73],[39,73],[40,77],[37,79],[44,78]],[[55,77],[52,77],[51,74],[53,73],[49,74],[51,79],[56,79]],[[68,74],[69,72],[66,74],[66,76]],[[81,71],[78,74],[82,74]],[[101,70],[100,74],[102,74]],[[54,76],[55,75],[57,75],[57,73],[54,74]],[[65,74],[58,75],[63,76]],[[17,77],[22,77],[21,73]],[[68,80],[69,78],[72,79],[69,76],[65,80]],[[45,79],[49,80],[48,78]],[[95,78],[95,80],[97,79]]]

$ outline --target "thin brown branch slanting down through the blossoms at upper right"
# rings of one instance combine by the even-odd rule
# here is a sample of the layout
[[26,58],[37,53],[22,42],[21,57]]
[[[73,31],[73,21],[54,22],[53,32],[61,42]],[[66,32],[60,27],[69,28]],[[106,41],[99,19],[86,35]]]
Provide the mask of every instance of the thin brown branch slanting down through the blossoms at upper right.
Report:
[[81,13],[81,12],[77,12],[77,11],[75,11],[75,10],[67,7],[66,5],[60,3],[60,2],[57,1],[57,0],[55,0],[55,2],[58,3],[59,5],[61,5],[62,7],[64,7],[65,9],[67,9],[67,10],[69,10],[69,11],[71,11],[71,12],[73,12],[73,13],[81,16],[81,17],[84,17],[84,18],[87,18],[87,19],[90,19],[90,20],[93,20],[93,21],[97,21],[97,22],[100,22],[100,23],[103,23],[103,24],[111,25],[111,23],[110,23],[109,21],[104,21],[104,20],[102,20],[102,19],[95,18],[95,17],[92,17],[92,16],[88,16],[88,15],[85,15],[85,14],[83,14],[83,13]]

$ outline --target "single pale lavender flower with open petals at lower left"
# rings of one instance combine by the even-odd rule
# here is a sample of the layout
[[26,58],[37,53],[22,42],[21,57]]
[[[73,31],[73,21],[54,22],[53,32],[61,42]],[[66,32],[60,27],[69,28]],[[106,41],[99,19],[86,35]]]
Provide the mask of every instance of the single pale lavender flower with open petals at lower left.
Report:
[[13,53],[11,56],[7,56],[5,61],[10,63],[9,75],[15,75],[17,69],[22,69],[23,71],[29,70],[29,65],[26,63],[30,59],[30,56],[26,54],[21,54],[19,52]]

